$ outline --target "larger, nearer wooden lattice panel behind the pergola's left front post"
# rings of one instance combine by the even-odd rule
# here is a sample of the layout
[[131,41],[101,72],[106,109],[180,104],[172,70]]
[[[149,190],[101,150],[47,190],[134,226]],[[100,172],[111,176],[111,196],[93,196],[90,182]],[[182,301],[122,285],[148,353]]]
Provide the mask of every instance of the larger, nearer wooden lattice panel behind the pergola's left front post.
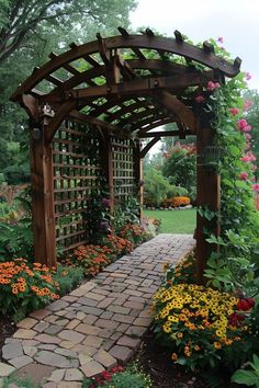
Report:
[[100,189],[100,138],[97,128],[65,122],[53,140],[56,241],[63,251],[88,240],[87,203]]

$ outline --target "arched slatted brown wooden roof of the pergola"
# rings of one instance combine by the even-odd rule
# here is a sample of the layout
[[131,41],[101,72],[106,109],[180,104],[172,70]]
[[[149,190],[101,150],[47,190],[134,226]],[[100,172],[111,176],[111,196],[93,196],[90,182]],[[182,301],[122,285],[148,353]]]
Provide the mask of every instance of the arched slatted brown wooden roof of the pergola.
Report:
[[239,71],[239,58],[230,64],[216,56],[210,43],[193,46],[178,31],[174,38],[156,36],[149,28],[142,35],[119,31],[120,36],[97,34],[97,41],[72,43],[60,55],[52,53],[50,60],[34,69],[12,95],[34,121],[38,119],[35,105],[52,107],[49,140],[68,115],[123,136],[145,137],[172,122],[195,133],[193,106],[199,88]]

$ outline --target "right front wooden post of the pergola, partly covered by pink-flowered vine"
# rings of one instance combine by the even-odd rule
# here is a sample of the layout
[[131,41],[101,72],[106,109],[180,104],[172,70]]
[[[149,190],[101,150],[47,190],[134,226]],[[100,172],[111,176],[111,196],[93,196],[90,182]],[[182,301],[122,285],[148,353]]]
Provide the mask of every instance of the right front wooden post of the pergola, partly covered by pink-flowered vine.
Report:
[[[196,202],[198,207],[207,206],[213,212],[219,212],[219,175],[214,169],[206,166],[204,152],[206,147],[213,145],[214,132],[212,128],[199,128],[196,136],[198,148],[198,169],[196,169]],[[218,247],[206,242],[206,230],[211,230],[216,237],[219,236],[219,217],[214,217],[211,221],[196,215],[196,275],[198,283],[203,284],[203,272],[206,267],[206,261],[212,251],[217,251]]]

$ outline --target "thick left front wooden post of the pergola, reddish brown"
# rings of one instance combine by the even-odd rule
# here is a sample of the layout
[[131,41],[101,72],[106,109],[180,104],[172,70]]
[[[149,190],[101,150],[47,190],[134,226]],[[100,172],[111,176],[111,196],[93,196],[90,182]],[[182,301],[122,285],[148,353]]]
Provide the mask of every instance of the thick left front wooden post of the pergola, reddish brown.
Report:
[[52,145],[46,141],[49,114],[31,125],[32,215],[35,262],[56,266],[56,231]]

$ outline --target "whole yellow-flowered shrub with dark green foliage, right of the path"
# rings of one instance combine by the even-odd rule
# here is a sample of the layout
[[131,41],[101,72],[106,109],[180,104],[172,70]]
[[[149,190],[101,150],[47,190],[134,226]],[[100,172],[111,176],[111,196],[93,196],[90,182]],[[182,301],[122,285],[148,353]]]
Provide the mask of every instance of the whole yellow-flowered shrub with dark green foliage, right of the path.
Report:
[[218,363],[222,349],[240,341],[245,330],[237,300],[195,284],[161,287],[155,294],[155,332],[173,350],[172,361],[192,370]]

